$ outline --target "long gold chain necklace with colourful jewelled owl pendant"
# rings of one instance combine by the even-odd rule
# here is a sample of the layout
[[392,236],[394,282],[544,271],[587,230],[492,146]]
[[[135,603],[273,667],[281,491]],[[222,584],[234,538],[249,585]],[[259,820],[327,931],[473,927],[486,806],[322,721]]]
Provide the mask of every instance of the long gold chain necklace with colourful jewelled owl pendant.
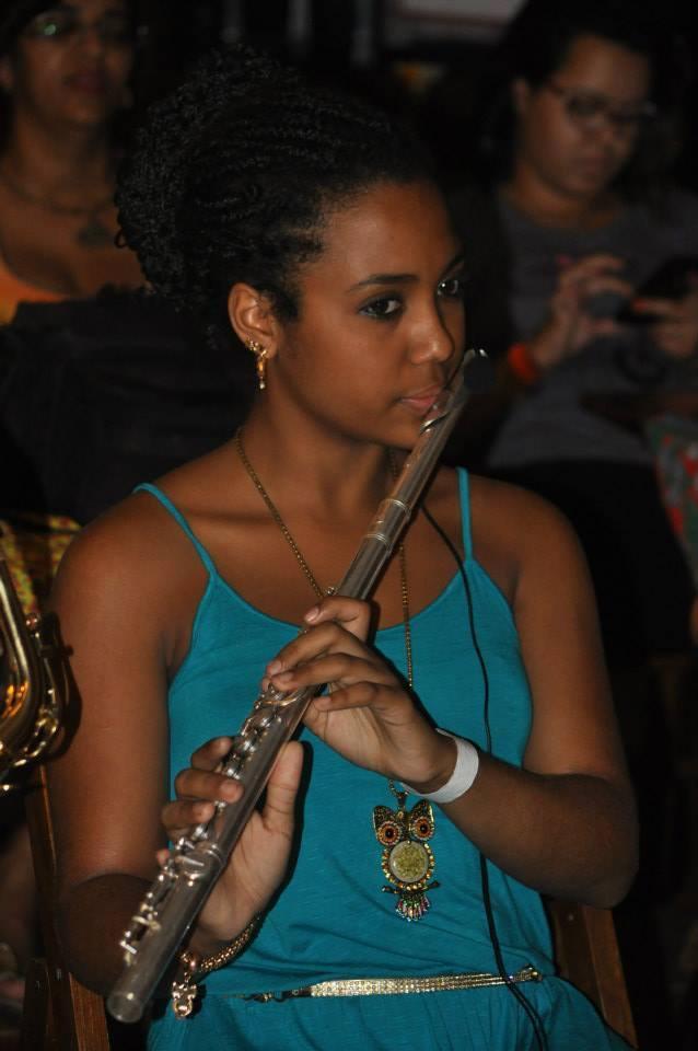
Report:
[[[283,521],[281,512],[265,489],[259,475],[247,459],[245,447],[243,446],[242,428],[239,428],[235,432],[234,442],[237,455],[245,471],[265,501],[272,519],[281,530],[286,542],[295,555],[295,561],[305,574],[313,591],[318,599],[325,598],[326,594],[331,594],[334,591],[333,588],[328,588],[327,590],[321,588],[313,570],[303,557],[301,548],[293,539],[289,527]],[[397,465],[392,450],[388,455],[393,475],[397,476]],[[398,546],[398,556],[407,683],[411,690],[415,675],[412,666],[412,635],[409,620],[407,559],[404,543]],[[405,806],[408,794],[404,789],[396,788],[391,779],[388,779],[388,788],[397,800],[397,810],[393,810],[391,807],[383,805],[373,808],[373,832],[383,847],[381,868],[387,880],[387,886],[383,887],[382,890],[397,896],[395,912],[398,916],[407,921],[417,921],[421,920],[430,908],[426,891],[439,886],[437,880],[431,879],[435,861],[433,852],[427,842],[435,832],[433,810],[427,799],[419,799],[411,810],[408,810]]]

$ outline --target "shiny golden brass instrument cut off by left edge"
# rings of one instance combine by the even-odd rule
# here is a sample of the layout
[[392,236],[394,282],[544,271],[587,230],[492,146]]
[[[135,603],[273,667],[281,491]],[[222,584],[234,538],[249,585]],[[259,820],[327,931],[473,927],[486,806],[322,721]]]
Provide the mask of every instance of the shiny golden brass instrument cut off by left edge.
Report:
[[67,695],[57,619],[25,617],[0,548],[0,793],[48,750]]

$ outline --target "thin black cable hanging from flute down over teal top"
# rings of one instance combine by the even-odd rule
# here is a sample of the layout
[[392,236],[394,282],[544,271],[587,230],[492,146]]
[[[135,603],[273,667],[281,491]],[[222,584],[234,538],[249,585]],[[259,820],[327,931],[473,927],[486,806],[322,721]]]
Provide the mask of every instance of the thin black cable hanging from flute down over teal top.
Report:
[[[466,597],[467,612],[468,612],[468,627],[470,631],[470,638],[473,639],[473,648],[477,657],[478,663],[480,666],[480,673],[482,677],[482,720],[485,723],[485,739],[487,741],[487,754],[492,754],[492,732],[489,721],[489,701],[490,701],[490,690],[489,690],[489,675],[487,673],[487,665],[485,663],[485,656],[480,649],[480,644],[478,642],[477,632],[475,630],[475,608],[473,602],[473,592],[470,590],[470,581],[468,580],[467,573],[465,571],[465,564],[461,558],[461,553],[456,548],[455,544],[445,532],[445,530],[439,524],[439,522],[433,518],[431,512],[428,510],[424,505],[422,505],[422,511],[427,521],[437,531],[438,535],[441,538],[443,543],[446,545],[453,557],[455,558],[456,566],[458,567],[458,573],[461,574],[461,579],[463,580],[463,588]],[[511,977],[507,972],[504,966],[504,958],[502,956],[501,943],[499,940],[499,935],[497,933],[497,924],[495,922],[495,913],[492,910],[492,898],[490,893],[489,886],[489,873],[487,870],[487,858],[479,852],[480,857],[480,886],[482,888],[482,904],[485,906],[485,916],[487,919],[487,928],[489,933],[490,944],[492,946],[492,951],[495,952],[495,960],[497,962],[497,970],[501,979],[503,979],[504,984],[509,992],[512,994],[514,1000],[516,1000],[520,1005],[525,1010],[531,1025],[533,1026],[534,1036],[536,1038],[536,1043],[539,1051],[547,1051],[548,1040],[545,1033],[545,1028],[543,1025],[543,1019],[540,1015],[533,1006],[532,1003],[527,1000],[526,996],[522,993],[519,986],[511,980]]]

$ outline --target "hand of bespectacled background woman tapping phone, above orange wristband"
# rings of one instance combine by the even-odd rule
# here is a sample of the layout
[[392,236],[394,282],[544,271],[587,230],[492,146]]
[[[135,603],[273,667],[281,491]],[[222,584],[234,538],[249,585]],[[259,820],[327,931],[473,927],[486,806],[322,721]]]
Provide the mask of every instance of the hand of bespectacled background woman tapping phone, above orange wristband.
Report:
[[598,253],[574,262],[558,259],[558,281],[549,303],[548,319],[527,343],[528,357],[545,372],[578,354],[591,339],[618,331],[613,317],[594,317],[586,310],[596,296],[612,293],[630,299],[632,286],[618,277],[623,259]]

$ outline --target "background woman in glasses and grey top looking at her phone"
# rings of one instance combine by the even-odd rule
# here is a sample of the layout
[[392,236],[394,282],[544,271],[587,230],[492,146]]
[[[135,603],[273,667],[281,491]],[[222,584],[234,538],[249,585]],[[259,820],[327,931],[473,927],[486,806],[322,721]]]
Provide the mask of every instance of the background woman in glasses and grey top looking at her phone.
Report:
[[[591,564],[644,818],[637,910],[620,923],[648,1047],[666,1046],[648,1018],[663,989],[651,917],[685,880],[663,839],[673,760],[656,668],[690,654],[695,608],[642,426],[698,406],[698,200],[667,177],[686,72],[670,45],[661,16],[625,0],[530,0],[493,62],[484,188],[453,200],[469,249],[468,339],[497,362],[455,455],[556,503]],[[674,287],[642,291],[679,257]],[[650,990],[640,972],[653,944]]]

